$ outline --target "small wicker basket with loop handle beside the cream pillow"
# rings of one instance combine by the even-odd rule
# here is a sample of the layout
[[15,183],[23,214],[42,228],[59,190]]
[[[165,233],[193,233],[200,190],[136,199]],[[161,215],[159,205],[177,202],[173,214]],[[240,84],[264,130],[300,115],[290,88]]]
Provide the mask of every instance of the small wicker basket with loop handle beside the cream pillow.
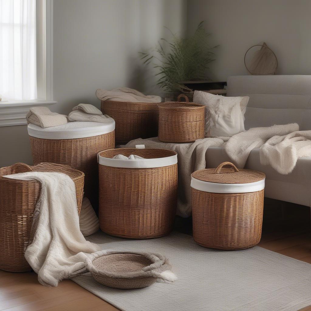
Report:
[[204,138],[205,106],[185,102],[166,102],[159,104],[159,133],[161,142],[186,143]]

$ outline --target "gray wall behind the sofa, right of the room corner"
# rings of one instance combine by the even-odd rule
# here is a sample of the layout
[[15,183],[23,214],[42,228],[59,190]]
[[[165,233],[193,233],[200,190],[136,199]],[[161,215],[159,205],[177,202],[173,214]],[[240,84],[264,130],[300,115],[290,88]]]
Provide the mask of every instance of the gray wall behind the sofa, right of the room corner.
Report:
[[206,21],[216,61],[209,77],[248,74],[244,54],[263,41],[278,58],[277,74],[311,74],[311,1],[189,0],[188,32]]

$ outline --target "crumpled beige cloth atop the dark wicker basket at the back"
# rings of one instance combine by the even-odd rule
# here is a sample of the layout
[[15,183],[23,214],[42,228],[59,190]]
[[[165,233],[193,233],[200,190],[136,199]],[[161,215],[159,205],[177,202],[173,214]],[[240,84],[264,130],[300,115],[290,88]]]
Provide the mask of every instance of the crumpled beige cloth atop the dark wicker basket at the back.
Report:
[[96,96],[99,100],[111,101],[130,101],[142,103],[160,103],[161,97],[155,95],[144,95],[141,92],[128,87],[120,87],[112,91],[103,89],[96,90]]

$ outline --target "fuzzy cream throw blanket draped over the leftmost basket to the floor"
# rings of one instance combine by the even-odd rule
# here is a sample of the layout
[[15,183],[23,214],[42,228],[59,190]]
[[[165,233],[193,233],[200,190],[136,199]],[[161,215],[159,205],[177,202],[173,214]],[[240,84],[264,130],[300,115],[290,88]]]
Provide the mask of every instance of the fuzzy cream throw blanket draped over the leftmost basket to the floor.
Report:
[[[63,279],[87,272],[90,260],[99,252],[101,255],[111,253],[111,250],[103,250],[104,244],[86,241],[82,235],[76,188],[68,175],[26,172],[5,177],[36,180],[41,184],[31,228],[33,241],[26,249],[25,258],[38,274],[38,281],[42,285],[57,286]],[[124,252],[128,251],[119,251]],[[157,281],[175,281],[176,276],[171,272],[166,258],[164,263],[161,267],[154,267],[154,277]]]

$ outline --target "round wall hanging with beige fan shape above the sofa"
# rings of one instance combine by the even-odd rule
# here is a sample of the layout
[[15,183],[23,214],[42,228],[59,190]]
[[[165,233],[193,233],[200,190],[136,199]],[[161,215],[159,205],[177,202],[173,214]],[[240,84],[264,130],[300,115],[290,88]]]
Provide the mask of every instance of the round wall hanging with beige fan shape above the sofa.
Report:
[[265,42],[246,51],[244,64],[251,75],[275,75],[278,65],[276,55]]

